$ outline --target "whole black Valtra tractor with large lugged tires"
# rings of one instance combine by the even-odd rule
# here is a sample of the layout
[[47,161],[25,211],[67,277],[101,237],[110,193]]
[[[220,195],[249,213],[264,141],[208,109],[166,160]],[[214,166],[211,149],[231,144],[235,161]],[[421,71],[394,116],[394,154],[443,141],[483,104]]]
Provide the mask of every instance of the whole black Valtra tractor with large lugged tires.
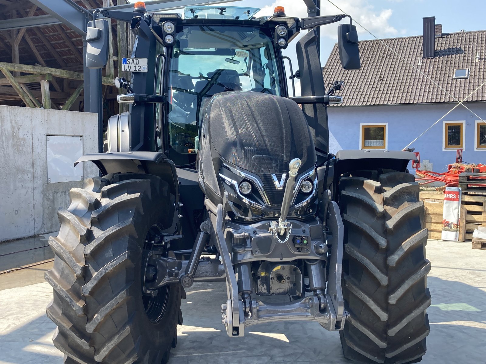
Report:
[[[429,333],[427,229],[405,151],[329,153],[317,27],[276,8],[193,6],[176,13],[101,10],[86,66],[106,64],[108,22],[136,34],[106,152],[83,156],[103,177],[70,191],[50,240],[47,315],[65,363],[166,363],[184,288],[226,282],[230,337],[280,320],[339,331],[359,363],[417,363]],[[298,70],[282,49],[296,42]],[[360,67],[356,27],[338,28],[346,69]],[[290,60],[289,60],[290,61]],[[289,97],[287,78],[300,80]],[[295,95],[295,93],[294,93]],[[318,359],[326,360],[325,358]]]

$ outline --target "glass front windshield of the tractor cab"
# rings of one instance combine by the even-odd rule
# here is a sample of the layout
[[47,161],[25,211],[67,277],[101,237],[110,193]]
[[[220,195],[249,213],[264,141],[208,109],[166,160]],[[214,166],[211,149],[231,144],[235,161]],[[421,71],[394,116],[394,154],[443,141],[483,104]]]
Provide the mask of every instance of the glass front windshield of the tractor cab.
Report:
[[270,31],[248,26],[188,26],[169,54],[166,130],[176,165],[195,162],[199,122],[211,97],[225,91],[281,95]]

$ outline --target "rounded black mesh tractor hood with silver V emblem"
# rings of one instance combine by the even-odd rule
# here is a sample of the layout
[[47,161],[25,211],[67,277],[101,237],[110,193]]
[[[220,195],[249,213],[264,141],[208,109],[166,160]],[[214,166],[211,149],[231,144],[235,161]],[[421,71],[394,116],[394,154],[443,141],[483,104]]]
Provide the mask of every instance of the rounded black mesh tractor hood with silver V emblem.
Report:
[[208,105],[205,124],[213,161],[219,155],[224,164],[258,176],[271,205],[281,204],[292,159],[302,161],[297,180],[315,167],[307,121],[290,99],[260,92],[224,92]]

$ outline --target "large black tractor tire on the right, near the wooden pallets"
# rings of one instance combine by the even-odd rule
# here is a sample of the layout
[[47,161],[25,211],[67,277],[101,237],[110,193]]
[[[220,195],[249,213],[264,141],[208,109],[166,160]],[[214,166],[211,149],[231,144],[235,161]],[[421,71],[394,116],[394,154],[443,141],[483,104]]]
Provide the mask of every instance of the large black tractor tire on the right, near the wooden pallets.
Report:
[[431,304],[418,183],[390,170],[351,175],[339,182],[349,313],[340,331],[344,356],[360,363],[417,363],[426,351]]

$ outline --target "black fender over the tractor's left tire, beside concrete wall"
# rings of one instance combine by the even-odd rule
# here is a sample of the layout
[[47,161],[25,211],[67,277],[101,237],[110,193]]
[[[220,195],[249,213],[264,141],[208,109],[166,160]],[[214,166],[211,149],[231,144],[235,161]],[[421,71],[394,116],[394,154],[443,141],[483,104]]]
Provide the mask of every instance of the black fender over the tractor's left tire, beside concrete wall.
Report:
[[85,154],[74,165],[81,162],[93,162],[104,176],[109,173],[152,174],[169,183],[171,195],[174,196],[174,219],[171,232],[179,230],[179,182],[174,162],[164,153],[150,151],[128,151]]

